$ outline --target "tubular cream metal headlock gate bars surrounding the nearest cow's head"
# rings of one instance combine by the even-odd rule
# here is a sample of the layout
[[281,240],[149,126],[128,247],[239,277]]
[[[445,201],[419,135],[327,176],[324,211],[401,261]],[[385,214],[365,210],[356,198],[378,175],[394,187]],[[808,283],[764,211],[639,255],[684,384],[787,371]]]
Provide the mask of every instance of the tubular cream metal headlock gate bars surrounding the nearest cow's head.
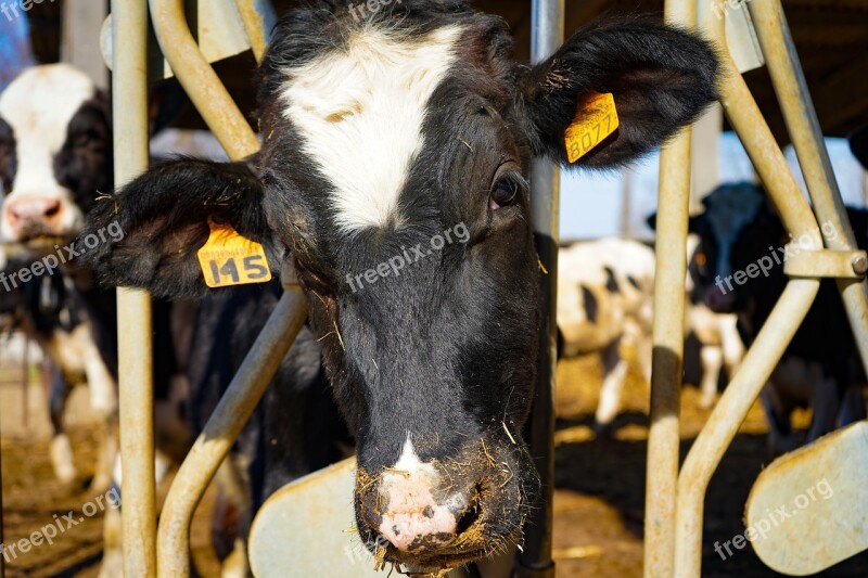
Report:
[[[702,1],[702,0],[700,0]],[[261,59],[267,30],[261,0],[235,0],[248,41]],[[203,56],[188,27],[183,0],[112,0],[113,94],[116,182],[123,185],[148,167],[148,21],[163,53],[184,90],[229,156],[244,158],[259,143],[244,116]],[[700,575],[702,512],[705,489],[739,424],[780,359],[815,296],[820,278],[839,279],[863,361],[868,361],[868,299],[853,260],[853,232],[837,189],[792,39],[779,0],[748,4],[765,52],[775,89],[807,181],[815,214],[804,201],[744,80],[729,56],[724,21],[711,16],[704,28],[724,59],[722,102],[738,131],[781,218],[794,235],[806,234],[813,249],[788,265],[793,278],[755,346],[748,354],[707,425],[697,438],[679,473],[678,393],[684,347],[684,286],[688,201],[690,193],[690,130],[669,142],[661,158],[661,192],[655,286],[654,357],[651,390],[646,566],[649,577]],[[743,5],[742,5],[743,8]],[[710,11],[706,11],[711,14]],[[560,46],[564,0],[533,0],[533,57],[542,60]],[[697,24],[697,0],[667,0],[666,21],[686,28]],[[686,168],[687,167],[687,168]],[[540,259],[549,271],[542,280],[547,296],[540,335],[541,355],[537,401],[528,427],[532,453],[546,488],[546,505],[528,527],[521,554],[521,576],[551,577],[551,491],[553,483],[554,314],[558,247],[558,171],[547,163],[534,168],[534,218]],[[820,236],[820,221],[843,234]],[[824,249],[824,241],[828,249]],[[673,290],[674,287],[677,287]],[[276,370],[302,327],[305,300],[292,280],[268,324],[205,431],[181,465],[156,528],[152,343],[150,296],[118,290],[120,367],[120,452],[124,479],[124,568],[127,576],[176,578],[190,575],[189,532],[193,512],[233,440],[261,398]],[[2,563],[2,561],[0,561]],[[1,566],[0,566],[1,569]]]

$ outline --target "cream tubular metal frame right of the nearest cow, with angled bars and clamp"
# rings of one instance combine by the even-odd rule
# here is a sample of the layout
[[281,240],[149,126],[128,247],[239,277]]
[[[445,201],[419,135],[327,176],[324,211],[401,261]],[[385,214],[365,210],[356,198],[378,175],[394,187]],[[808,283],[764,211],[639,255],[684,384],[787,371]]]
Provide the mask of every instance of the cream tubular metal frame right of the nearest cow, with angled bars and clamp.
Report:
[[[658,285],[654,319],[654,367],[651,433],[648,449],[646,512],[647,577],[694,578],[702,563],[705,492],[724,452],[819,291],[822,278],[837,278],[863,361],[868,360],[865,254],[856,249],[852,229],[831,171],[819,123],[801,72],[780,0],[753,0],[751,14],[766,54],[773,84],[808,183],[814,211],[803,197],[780,147],[739,74],[726,43],[725,21],[706,11],[703,29],[722,57],[720,102],[744,144],[784,227],[800,237],[804,255],[789,266],[793,278],[773,310],[741,368],[697,437],[678,471],[678,394],[682,357],[682,314],[689,191],[689,136],[682,133],[661,155]],[[693,28],[695,0],[667,0],[666,20]],[[687,172],[687,177],[685,174]],[[815,217],[816,213],[816,217]],[[829,235],[818,220],[833,224]],[[822,237],[821,231],[826,234]],[[824,247],[824,241],[828,248]],[[667,258],[667,256],[669,258]],[[678,287],[679,291],[667,291]],[[868,363],[866,363],[868,365]]]

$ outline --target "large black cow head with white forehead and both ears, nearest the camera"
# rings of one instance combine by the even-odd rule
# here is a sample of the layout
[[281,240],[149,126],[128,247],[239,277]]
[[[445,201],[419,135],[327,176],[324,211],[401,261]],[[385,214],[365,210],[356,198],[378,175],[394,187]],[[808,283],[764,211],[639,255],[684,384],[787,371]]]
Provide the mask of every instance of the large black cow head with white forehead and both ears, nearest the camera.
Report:
[[521,537],[538,486],[520,437],[533,397],[539,267],[527,171],[566,163],[577,105],[612,92],[621,128],[576,166],[616,166],[714,98],[702,41],[630,21],[579,31],[533,68],[503,22],[460,1],[360,21],[322,2],[276,28],[261,66],[263,150],[181,160],[97,206],[120,243],[110,283],[201,295],[207,219],[296,268],[356,434],[356,511],[390,561],[459,565]]

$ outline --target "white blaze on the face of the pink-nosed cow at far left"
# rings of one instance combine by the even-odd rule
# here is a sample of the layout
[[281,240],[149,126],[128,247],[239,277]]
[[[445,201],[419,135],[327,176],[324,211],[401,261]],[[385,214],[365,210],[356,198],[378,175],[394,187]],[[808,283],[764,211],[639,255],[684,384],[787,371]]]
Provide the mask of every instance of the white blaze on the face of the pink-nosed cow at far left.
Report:
[[[54,177],[54,155],[66,142],[69,121],[97,88],[90,78],[65,64],[24,72],[0,94],[0,118],[14,131],[17,170],[11,194],[36,194],[68,203],[66,228],[80,226],[80,210],[72,194]],[[9,193],[9,192],[8,192]],[[9,236],[3,218],[2,232]]]

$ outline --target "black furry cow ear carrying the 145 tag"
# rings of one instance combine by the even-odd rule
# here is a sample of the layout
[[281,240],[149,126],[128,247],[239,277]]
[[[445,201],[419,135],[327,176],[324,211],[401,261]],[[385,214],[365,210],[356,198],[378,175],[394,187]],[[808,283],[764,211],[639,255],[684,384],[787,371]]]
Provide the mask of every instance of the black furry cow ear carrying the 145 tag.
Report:
[[80,236],[95,234],[101,242],[84,258],[105,285],[201,297],[207,286],[197,252],[208,240],[209,220],[260,243],[276,270],[282,255],[271,242],[259,178],[245,163],[193,159],[158,165],[101,198]]

